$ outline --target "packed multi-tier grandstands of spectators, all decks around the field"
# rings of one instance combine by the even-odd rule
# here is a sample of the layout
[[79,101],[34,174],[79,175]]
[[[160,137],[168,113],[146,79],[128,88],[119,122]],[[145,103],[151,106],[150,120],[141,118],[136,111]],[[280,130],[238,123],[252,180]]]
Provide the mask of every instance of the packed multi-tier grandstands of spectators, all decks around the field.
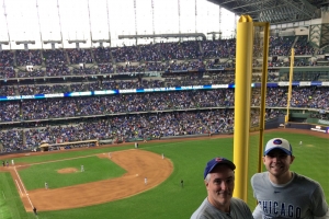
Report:
[[[326,102],[329,76],[317,68],[318,60],[325,59],[325,50],[313,48],[307,36],[271,36],[269,55],[277,59],[272,58],[269,62],[268,81],[274,87],[268,88],[266,119],[285,114],[288,74],[282,73],[282,69],[290,65],[292,47],[296,50],[296,71],[304,71],[294,74],[296,84],[291,107],[310,110],[311,116],[327,119],[327,114],[318,113],[329,111]],[[0,149],[2,152],[31,150],[42,141],[111,139],[117,142],[232,132],[235,51],[236,39],[111,48],[1,50]],[[256,70],[261,68],[259,60],[254,60],[253,67]],[[260,82],[261,76],[254,73],[252,81]],[[299,87],[300,81],[308,85]],[[132,92],[191,85],[208,87],[190,91]],[[91,91],[118,93],[42,97]],[[254,87],[252,125],[258,124],[259,105],[260,89]]]

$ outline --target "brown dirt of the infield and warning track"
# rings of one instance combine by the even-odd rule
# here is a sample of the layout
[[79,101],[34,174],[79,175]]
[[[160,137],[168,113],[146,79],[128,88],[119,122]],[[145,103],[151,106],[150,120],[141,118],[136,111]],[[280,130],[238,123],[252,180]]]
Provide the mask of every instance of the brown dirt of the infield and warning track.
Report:
[[[282,130],[282,129],[281,129]],[[265,132],[270,131],[277,131],[277,129],[266,130]],[[303,129],[284,129],[285,132],[293,132],[293,134],[304,134],[309,136],[317,136],[320,138],[329,139],[329,135],[319,132],[319,131],[310,131],[310,130],[303,130]],[[251,135],[258,135],[258,132],[253,132]],[[217,135],[212,137],[204,137],[204,138],[231,138],[231,135]],[[202,138],[197,138],[201,140]],[[178,140],[178,139],[177,139]],[[179,141],[183,140],[193,140],[193,138],[189,139],[179,139]],[[161,140],[164,141],[164,140]],[[168,140],[170,142],[174,140]],[[145,142],[146,145],[148,142]],[[120,147],[125,146],[126,143],[122,145],[110,145],[103,147]],[[132,145],[132,143],[131,143]],[[72,149],[72,150],[92,150],[92,149]],[[63,153],[66,151],[52,151],[52,153]],[[43,155],[42,152],[31,153],[30,155]],[[2,155],[1,159],[14,159],[18,157],[25,157],[25,153],[13,153]],[[107,154],[98,154],[100,158],[109,159]],[[84,207],[84,206],[92,206],[102,203],[109,203],[112,200],[117,200],[122,198],[126,198],[144,191],[150,189],[161,182],[163,182],[173,171],[173,165],[169,159],[161,159],[160,154],[156,154],[152,152],[148,152],[145,150],[124,150],[111,153],[111,160],[115,162],[117,165],[124,168],[127,173],[124,174],[122,177],[99,181],[82,185],[63,187],[63,188],[55,188],[52,189],[35,189],[35,191],[26,191],[25,193],[22,192],[23,184],[16,175],[16,172],[12,166],[0,166],[1,172],[10,172],[12,177],[16,180],[19,186],[21,186],[20,197],[24,204],[26,211],[32,211],[31,203],[33,205],[38,206],[38,210],[60,210],[60,209],[70,209],[77,207]],[[36,163],[37,164],[37,163]],[[20,164],[16,166],[18,170],[26,169],[30,165]],[[161,172],[155,171],[161,169]],[[66,173],[66,174],[69,174]],[[155,175],[156,174],[156,175]],[[144,184],[144,176],[147,176],[148,183],[147,186]],[[128,178],[128,180],[127,180]],[[132,186],[134,185],[134,186]],[[126,189],[129,187],[129,189]],[[83,191],[83,193],[81,193]],[[115,193],[112,193],[115,191]],[[27,199],[27,194],[30,200]],[[93,198],[95,197],[95,198]],[[48,201],[52,199],[52,201]],[[66,200],[65,203],[63,200]]]

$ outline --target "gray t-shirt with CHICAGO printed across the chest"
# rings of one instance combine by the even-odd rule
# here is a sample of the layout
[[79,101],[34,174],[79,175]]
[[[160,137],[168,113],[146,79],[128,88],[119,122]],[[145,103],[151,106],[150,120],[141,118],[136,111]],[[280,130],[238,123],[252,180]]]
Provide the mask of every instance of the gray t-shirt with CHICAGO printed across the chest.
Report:
[[292,181],[285,185],[273,184],[269,172],[257,173],[251,177],[253,197],[258,201],[254,218],[310,219],[326,215],[328,205],[320,184],[297,173],[293,174]]

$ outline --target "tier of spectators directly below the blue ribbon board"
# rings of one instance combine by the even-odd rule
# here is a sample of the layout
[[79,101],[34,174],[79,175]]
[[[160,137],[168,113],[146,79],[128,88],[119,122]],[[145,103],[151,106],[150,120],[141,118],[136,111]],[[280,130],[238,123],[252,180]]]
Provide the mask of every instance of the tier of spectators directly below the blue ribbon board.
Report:
[[[105,85],[118,85],[104,83]],[[102,84],[102,85],[104,85]],[[154,83],[157,85],[157,82]],[[60,89],[60,88],[59,88]],[[86,89],[78,87],[78,89]],[[46,91],[46,88],[44,88]],[[260,105],[260,95],[254,89],[252,106]],[[287,88],[268,88],[266,106],[286,107]],[[291,107],[318,108],[329,111],[326,101],[328,88],[294,87]],[[117,113],[141,113],[168,110],[191,110],[204,107],[232,107],[234,89],[196,90],[161,93],[120,94],[91,97],[66,97],[46,100],[24,100],[22,102],[3,102],[0,106],[0,122],[38,120],[65,117],[98,116]]]

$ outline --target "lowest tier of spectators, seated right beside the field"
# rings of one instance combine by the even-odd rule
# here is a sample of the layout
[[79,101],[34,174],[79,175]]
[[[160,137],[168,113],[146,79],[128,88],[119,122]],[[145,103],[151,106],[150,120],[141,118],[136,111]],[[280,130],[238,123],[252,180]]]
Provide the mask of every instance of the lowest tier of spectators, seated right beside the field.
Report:
[[[257,123],[257,111],[252,111]],[[282,115],[279,111],[268,111],[266,119]],[[135,114],[113,116],[107,119],[94,118],[90,122],[46,126],[26,129],[11,129],[0,132],[4,151],[24,150],[38,147],[41,142],[61,143],[93,139],[145,139],[182,135],[231,134],[234,110],[212,110],[197,112],[167,112],[157,114]],[[25,145],[22,145],[24,138]],[[78,147],[80,147],[79,145]]]

